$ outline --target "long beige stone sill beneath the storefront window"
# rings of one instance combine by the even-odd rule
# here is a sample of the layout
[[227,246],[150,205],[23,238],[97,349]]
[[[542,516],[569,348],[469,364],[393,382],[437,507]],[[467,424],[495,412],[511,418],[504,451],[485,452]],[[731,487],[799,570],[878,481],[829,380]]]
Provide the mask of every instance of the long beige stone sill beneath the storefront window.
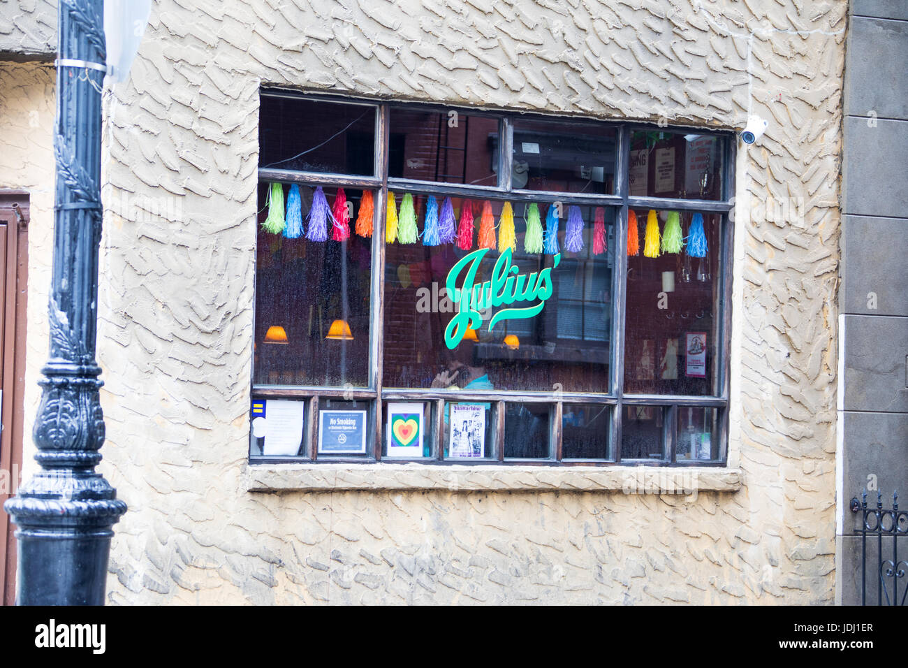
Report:
[[724,466],[521,466],[459,464],[246,464],[247,492],[420,491],[736,492],[741,470]]

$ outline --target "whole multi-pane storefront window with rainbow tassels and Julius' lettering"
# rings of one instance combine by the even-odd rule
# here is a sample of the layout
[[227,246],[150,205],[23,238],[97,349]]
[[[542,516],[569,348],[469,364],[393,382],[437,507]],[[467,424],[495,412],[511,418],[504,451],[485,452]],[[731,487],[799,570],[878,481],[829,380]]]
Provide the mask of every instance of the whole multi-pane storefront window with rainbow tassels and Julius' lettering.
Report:
[[722,464],[730,137],[263,91],[252,462]]

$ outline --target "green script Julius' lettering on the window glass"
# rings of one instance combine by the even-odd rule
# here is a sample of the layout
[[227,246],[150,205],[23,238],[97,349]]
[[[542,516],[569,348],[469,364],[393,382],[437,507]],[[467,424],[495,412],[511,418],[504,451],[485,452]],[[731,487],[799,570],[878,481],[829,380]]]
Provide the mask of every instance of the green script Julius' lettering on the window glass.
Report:
[[[480,248],[465,255],[448,272],[445,287],[448,294],[459,308],[445,329],[445,345],[454,349],[463,340],[467,329],[479,329],[482,326],[482,315],[479,313],[490,307],[510,305],[515,302],[533,302],[538,304],[523,308],[503,308],[489,319],[489,332],[502,320],[531,318],[537,315],[546,300],[552,296],[552,269],[547,267],[541,272],[519,274],[519,267],[511,264],[511,249],[508,248],[498,257],[492,268],[492,278],[483,284],[476,285],[476,273],[482,258],[489,253],[488,248]],[[555,266],[561,262],[561,254],[555,255]],[[456,285],[462,283],[458,289]]]

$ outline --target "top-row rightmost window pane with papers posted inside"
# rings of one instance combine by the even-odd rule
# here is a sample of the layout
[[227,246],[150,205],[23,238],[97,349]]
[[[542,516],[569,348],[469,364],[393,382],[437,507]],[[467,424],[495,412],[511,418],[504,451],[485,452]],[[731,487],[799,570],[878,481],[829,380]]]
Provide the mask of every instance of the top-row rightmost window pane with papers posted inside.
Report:
[[717,200],[722,198],[724,140],[695,133],[631,133],[631,196]]

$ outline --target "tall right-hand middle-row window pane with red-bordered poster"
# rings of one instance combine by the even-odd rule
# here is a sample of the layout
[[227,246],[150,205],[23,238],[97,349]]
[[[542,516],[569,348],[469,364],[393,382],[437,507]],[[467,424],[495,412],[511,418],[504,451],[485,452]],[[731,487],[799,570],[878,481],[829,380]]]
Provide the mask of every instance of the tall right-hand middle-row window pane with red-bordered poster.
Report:
[[[660,234],[668,213],[657,216]],[[700,236],[690,232],[691,214],[680,214],[686,248],[645,257],[647,212],[636,214],[640,253],[627,258],[625,392],[716,394],[720,216],[704,215]],[[695,235],[706,245],[692,243]],[[708,249],[705,257],[691,257],[697,244]]]

